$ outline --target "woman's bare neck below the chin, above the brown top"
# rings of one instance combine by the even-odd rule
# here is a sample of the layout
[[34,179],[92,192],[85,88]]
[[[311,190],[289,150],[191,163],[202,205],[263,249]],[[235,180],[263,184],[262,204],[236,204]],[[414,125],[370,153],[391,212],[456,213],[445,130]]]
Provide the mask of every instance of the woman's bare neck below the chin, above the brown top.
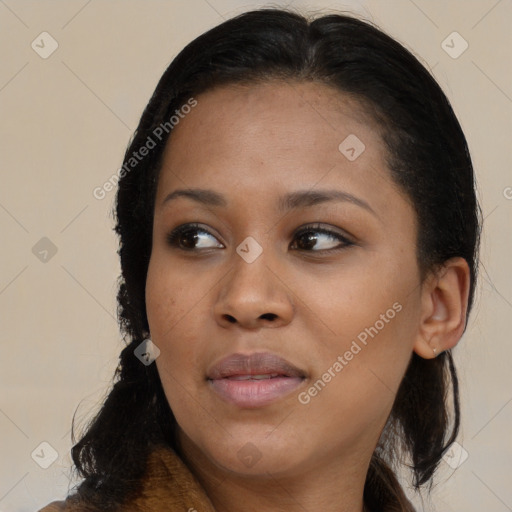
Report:
[[216,512],[365,512],[363,490],[371,458],[354,451],[293,474],[239,475],[221,468],[181,433],[179,453]]

